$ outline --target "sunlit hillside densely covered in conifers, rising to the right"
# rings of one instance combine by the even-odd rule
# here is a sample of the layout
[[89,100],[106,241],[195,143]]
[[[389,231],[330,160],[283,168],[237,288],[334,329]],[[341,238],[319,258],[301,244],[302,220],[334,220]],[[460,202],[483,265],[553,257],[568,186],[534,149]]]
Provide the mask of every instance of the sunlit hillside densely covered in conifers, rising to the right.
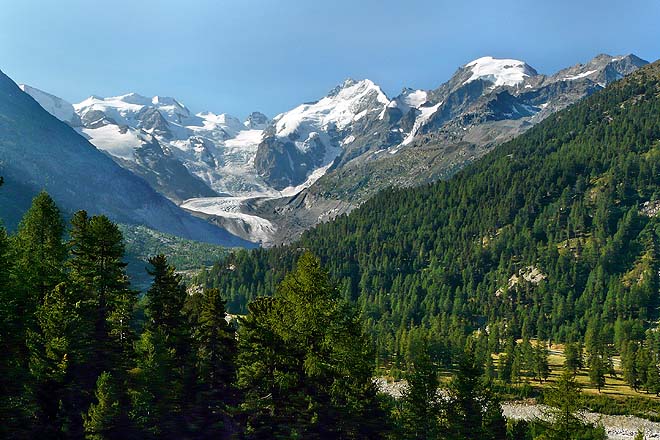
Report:
[[479,329],[498,344],[586,335],[594,353],[647,356],[658,351],[645,330],[660,305],[659,205],[656,62],[449,181],[384,191],[291,246],[232,254],[200,280],[243,313],[311,250],[358,303],[381,364],[414,359],[424,335],[448,360]]

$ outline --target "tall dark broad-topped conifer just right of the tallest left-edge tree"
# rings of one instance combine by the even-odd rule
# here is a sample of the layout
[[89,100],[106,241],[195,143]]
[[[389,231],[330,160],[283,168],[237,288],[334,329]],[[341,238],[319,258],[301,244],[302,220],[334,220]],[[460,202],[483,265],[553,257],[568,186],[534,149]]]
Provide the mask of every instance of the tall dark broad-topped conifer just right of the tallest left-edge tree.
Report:
[[[123,261],[123,237],[107,217],[78,211],[71,220],[67,261],[75,301],[81,309],[82,361],[74,371],[74,405],[86,413],[94,401],[100,376],[107,372],[119,389],[126,388],[132,367],[135,335],[131,328],[136,292],[130,289]],[[120,394],[122,420],[128,419],[128,396]],[[82,420],[73,427],[82,435]]]

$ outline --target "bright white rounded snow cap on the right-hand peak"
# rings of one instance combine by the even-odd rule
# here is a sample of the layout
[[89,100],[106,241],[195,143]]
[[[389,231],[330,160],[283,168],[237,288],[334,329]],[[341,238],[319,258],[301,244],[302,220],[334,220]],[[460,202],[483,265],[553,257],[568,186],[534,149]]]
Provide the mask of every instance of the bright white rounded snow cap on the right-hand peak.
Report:
[[464,66],[472,76],[463,84],[478,79],[493,83],[494,86],[515,86],[538,72],[529,64],[520,60],[500,59],[491,56],[477,58]]

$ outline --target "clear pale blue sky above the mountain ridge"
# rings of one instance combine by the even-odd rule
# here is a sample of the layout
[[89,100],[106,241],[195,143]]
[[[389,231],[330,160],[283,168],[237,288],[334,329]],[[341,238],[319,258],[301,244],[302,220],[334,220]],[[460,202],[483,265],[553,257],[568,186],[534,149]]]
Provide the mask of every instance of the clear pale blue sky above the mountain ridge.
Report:
[[2,0],[0,69],[69,101],[173,96],[274,116],[344,78],[396,95],[484,55],[541,73],[660,57],[658,0]]

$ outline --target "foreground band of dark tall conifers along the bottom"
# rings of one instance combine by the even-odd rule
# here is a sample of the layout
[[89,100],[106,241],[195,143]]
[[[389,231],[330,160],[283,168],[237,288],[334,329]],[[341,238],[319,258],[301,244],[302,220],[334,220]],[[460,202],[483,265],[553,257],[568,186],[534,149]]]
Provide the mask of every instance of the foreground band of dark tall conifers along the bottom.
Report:
[[[188,290],[164,255],[139,299],[117,225],[85,211],[65,224],[46,193],[0,246],[3,438],[604,435],[577,418],[507,424],[471,338],[449,381],[425,341],[404,395],[378,393],[360,314],[311,253],[229,319],[218,289]],[[564,414],[579,389],[570,374],[558,386]]]

